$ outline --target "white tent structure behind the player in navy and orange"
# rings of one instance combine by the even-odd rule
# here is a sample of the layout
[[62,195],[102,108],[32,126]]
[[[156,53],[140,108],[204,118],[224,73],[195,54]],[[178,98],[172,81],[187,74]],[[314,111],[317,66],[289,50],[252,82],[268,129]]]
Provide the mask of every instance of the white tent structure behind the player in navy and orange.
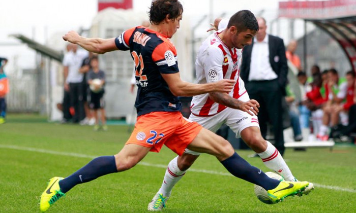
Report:
[[[141,25],[148,20],[146,13],[132,10],[108,8],[102,10],[94,18],[90,29],[90,37],[114,38],[125,29]],[[190,24],[185,17],[181,28],[171,39],[177,49],[181,77],[185,81],[193,80],[191,61]],[[134,114],[136,94],[130,93],[130,79],[134,72],[134,63],[127,51],[113,51],[99,56],[101,69],[106,74],[105,103],[107,117],[131,117]]]

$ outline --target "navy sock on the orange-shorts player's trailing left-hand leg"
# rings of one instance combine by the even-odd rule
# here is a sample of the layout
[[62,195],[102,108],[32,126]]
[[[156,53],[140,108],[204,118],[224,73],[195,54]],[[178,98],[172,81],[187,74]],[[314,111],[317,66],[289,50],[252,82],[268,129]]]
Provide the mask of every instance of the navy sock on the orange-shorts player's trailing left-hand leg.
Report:
[[59,182],[61,192],[66,193],[77,184],[93,181],[100,176],[117,172],[115,157],[102,156],[91,162]]

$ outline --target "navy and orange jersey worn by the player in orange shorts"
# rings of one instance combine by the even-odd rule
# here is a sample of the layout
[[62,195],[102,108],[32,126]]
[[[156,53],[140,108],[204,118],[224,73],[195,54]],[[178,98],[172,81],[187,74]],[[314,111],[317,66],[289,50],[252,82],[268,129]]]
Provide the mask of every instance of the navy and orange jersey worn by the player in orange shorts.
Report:
[[181,102],[171,93],[161,76],[179,72],[176,49],[169,39],[138,26],[123,32],[115,39],[115,44],[119,50],[130,50],[135,62],[137,116],[180,111]]

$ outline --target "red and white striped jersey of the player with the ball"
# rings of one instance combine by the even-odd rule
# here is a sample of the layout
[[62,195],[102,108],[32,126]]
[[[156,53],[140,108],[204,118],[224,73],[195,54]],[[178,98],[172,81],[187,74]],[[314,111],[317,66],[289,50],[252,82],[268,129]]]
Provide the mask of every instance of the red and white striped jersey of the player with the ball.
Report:
[[[196,83],[234,79],[236,83],[229,95],[237,99],[246,92],[245,84],[240,78],[242,50],[228,48],[219,38],[220,32],[210,35],[199,48],[195,61]],[[204,117],[213,116],[227,107],[214,102],[209,94],[202,94],[193,96],[190,108],[193,115]]]

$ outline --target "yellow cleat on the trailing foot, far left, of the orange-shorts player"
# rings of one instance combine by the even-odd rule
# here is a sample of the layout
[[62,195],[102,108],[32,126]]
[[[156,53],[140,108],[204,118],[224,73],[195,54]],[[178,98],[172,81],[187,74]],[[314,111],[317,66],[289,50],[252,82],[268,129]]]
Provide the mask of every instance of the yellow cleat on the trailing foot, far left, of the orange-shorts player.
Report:
[[48,210],[55,201],[65,196],[65,194],[61,192],[60,185],[58,184],[61,180],[63,180],[63,177],[52,177],[49,180],[46,190],[41,195],[40,210],[42,212]]

